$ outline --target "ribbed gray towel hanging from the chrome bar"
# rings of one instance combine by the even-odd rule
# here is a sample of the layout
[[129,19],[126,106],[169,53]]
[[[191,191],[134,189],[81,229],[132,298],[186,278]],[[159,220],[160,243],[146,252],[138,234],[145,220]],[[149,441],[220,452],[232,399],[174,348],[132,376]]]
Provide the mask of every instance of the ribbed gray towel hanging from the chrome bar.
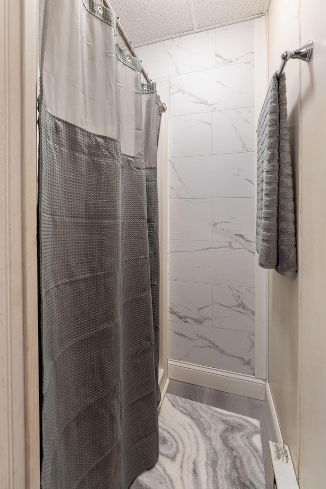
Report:
[[296,274],[293,180],[285,73],[273,75],[258,119],[256,250],[259,265]]

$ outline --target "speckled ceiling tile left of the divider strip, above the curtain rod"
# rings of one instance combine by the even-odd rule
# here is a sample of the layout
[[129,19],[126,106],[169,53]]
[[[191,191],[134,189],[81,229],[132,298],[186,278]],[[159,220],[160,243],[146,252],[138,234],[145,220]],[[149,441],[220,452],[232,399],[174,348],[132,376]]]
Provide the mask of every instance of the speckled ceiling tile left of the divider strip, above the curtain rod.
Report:
[[110,3],[133,44],[193,30],[187,0],[112,0]]

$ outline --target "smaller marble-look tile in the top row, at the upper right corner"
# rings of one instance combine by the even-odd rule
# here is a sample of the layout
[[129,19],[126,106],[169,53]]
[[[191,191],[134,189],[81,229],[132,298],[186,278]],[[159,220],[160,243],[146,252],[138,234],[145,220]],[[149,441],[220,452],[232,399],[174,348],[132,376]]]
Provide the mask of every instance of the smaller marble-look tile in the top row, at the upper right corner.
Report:
[[225,25],[215,29],[216,66],[255,59],[254,20]]

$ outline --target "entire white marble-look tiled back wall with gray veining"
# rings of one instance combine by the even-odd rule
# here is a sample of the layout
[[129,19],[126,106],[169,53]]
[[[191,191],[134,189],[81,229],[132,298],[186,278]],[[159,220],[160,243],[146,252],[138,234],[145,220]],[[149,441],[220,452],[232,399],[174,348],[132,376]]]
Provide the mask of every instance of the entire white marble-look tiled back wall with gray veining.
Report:
[[254,21],[137,51],[170,117],[169,357],[254,375]]

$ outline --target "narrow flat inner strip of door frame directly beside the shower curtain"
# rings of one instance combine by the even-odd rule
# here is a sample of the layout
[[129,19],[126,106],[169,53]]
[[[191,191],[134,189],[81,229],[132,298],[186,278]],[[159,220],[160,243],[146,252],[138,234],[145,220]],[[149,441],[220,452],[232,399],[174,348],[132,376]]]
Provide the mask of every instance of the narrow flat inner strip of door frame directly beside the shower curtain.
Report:
[[22,248],[24,307],[26,489],[40,486],[40,390],[38,329],[38,34],[39,1],[22,0]]

